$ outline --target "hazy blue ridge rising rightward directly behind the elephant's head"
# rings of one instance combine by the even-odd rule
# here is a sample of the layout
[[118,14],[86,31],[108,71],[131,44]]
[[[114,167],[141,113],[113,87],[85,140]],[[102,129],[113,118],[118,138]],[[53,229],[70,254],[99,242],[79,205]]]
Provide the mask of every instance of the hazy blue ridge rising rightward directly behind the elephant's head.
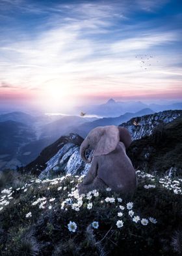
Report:
[[137,117],[137,116],[143,116],[146,114],[153,114],[153,110],[149,108],[144,108],[136,113],[125,113],[121,116],[118,116],[116,118],[101,118],[92,122],[86,122],[82,125],[79,125],[77,127],[72,127],[70,129],[70,132],[77,133],[80,136],[83,136],[83,138],[86,137],[86,135],[95,127],[98,126],[105,126],[105,125],[120,125],[120,123],[123,123],[125,121],[130,120],[131,118]]

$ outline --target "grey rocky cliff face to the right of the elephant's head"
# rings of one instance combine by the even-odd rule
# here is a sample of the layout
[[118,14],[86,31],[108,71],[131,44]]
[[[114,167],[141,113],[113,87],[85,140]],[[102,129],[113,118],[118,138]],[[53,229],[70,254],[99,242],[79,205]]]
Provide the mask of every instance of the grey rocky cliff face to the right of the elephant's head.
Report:
[[151,135],[162,123],[170,123],[180,116],[182,116],[182,110],[166,110],[155,114],[132,118],[119,126],[129,129],[133,140],[138,140],[144,136]]

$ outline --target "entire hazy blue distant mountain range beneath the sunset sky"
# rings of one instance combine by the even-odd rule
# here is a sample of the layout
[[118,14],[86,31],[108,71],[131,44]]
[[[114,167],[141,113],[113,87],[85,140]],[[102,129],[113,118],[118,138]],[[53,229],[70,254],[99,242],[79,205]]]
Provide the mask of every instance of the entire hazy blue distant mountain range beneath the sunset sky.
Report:
[[[94,106],[94,109],[98,111],[97,115],[104,116],[104,113],[110,113],[109,118],[65,115],[31,116],[23,112],[1,114],[0,168],[16,168],[17,166],[27,165],[27,163],[36,159],[46,146],[55,142],[62,135],[66,136],[69,133],[76,133],[85,138],[94,127],[120,125],[132,118],[137,119],[140,116],[153,114],[153,109],[146,108],[146,106],[148,105],[141,102],[121,103],[113,99],[110,99],[105,104]],[[152,104],[151,106],[157,108],[158,105]],[[171,108],[180,108],[181,103],[170,106]],[[167,108],[167,106],[164,107]],[[128,110],[133,110],[133,112]]]

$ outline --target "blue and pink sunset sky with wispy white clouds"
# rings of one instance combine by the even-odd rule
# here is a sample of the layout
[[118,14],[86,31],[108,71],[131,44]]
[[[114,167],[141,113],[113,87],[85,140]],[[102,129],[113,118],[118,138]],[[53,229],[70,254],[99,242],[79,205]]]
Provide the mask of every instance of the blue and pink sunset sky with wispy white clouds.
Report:
[[181,101],[182,2],[0,1],[0,108]]

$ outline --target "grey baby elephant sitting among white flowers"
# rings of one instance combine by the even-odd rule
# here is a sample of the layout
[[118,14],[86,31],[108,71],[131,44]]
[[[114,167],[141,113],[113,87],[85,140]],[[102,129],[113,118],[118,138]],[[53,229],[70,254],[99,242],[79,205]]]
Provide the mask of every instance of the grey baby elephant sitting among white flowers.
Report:
[[[79,184],[79,193],[88,193],[93,189],[106,189],[125,194],[133,194],[136,189],[136,172],[125,149],[131,144],[131,135],[124,127],[109,125],[96,127],[81,144],[83,161],[91,163],[83,182]],[[93,159],[86,158],[86,150],[94,150]]]

